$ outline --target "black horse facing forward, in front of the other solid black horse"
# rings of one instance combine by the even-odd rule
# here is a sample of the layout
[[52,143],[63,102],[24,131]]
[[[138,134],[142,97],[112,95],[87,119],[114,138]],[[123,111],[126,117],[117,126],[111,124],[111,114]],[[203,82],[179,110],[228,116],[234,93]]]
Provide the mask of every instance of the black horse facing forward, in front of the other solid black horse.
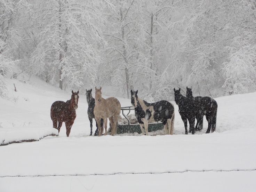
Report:
[[185,126],[185,134],[187,135],[187,120],[189,120],[189,130],[195,134],[195,112],[194,103],[189,98],[181,94],[181,88],[176,90],[174,88],[174,99],[179,107],[179,114]]

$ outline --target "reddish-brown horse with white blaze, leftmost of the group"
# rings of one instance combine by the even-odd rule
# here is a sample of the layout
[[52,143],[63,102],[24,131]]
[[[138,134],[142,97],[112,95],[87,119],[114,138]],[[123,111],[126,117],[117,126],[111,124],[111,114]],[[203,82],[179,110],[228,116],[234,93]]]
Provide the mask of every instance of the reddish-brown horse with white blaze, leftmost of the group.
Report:
[[[78,108],[79,91],[73,92],[71,99],[64,101],[55,101],[51,105],[51,120],[53,121],[53,128],[57,129],[58,132],[61,130],[62,123],[66,125],[66,135],[69,137],[71,127],[74,123],[77,114],[75,111]],[[58,127],[57,127],[58,123]]]

